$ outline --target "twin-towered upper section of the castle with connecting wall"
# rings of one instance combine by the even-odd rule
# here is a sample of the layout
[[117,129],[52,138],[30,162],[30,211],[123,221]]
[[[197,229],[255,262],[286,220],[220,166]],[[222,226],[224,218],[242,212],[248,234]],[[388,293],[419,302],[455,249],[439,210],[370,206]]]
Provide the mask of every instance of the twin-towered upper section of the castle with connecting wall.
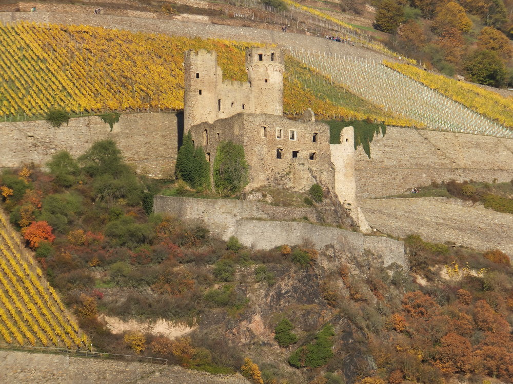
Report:
[[279,49],[246,49],[248,82],[223,80],[217,53],[187,51],[184,59],[184,128],[240,112],[283,114],[284,55]]

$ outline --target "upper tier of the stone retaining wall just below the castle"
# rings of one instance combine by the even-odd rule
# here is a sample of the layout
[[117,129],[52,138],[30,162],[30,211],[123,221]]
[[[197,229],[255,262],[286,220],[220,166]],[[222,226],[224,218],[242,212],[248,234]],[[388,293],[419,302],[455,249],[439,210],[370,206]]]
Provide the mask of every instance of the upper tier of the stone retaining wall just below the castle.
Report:
[[308,217],[311,221],[319,221],[313,208],[278,207],[257,201],[232,199],[156,195],[153,198],[153,211],[186,220],[203,220],[214,235],[224,240],[233,235],[237,221],[243,218],[294,220]]

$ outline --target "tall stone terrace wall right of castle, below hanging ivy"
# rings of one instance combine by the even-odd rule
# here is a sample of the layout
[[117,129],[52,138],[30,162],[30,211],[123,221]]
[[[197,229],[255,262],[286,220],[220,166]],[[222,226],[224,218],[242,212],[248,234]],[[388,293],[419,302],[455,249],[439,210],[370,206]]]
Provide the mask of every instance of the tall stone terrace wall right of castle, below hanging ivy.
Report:
[[431,181],[492,183],[513,178],[513,139],[387,127],[370,144],[369,159],[356,152],[357,194],[398,194]]

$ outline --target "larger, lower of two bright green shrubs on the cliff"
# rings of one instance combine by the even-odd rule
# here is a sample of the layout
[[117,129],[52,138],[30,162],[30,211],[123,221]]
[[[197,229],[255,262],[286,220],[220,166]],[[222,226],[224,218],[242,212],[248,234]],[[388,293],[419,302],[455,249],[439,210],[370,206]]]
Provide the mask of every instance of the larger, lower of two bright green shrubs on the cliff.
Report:
[[335,335],[333,326],[326,324],[315,336],[314,343],[300,347],[290,355],[288,362],[295,368],[319,368],[328,363],[333,357],[331,337]]

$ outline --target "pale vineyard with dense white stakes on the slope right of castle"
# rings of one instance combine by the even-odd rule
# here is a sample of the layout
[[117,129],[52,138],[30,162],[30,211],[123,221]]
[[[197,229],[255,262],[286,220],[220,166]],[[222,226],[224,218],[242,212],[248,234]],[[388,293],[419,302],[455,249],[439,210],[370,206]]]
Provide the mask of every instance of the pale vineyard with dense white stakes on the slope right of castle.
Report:
[[513,138],[507,127],[381,63],[296,49],[289,53],[369,102],[429,129]]

